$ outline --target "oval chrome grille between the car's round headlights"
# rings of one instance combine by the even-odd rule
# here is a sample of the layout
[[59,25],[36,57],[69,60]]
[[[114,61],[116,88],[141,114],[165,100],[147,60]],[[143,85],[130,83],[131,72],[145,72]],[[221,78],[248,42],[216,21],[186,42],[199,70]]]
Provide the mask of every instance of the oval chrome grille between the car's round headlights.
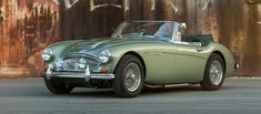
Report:
[[84,71],[86,69],[79,68],[80,59],[84,59],[87,65],[89,65],[91,70],[97,69],[99,66],[99,60],[92,56],[71,55],[71,56],[66,56],[62,59],[61,70],[62,71]]

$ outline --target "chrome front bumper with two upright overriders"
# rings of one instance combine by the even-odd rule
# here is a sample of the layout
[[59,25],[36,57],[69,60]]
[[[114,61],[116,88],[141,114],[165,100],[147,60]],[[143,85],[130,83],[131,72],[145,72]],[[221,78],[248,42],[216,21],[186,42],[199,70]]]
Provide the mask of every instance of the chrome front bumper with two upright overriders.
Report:
[[89,66],[87,66],[87,70],[84,72],[73,72],[73,71],[53,71],[52,66],[49,66],[47,72],[42,74],[48,80],[51,77],[76,77],[76,79],[84,79],[86,82],[90,80],[113,80],[114,74],[91,74]]

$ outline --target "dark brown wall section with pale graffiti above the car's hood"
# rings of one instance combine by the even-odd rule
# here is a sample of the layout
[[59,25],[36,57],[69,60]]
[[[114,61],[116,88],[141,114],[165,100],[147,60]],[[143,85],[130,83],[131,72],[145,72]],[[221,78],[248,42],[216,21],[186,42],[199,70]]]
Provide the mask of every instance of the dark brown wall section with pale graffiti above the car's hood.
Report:
[[60,8],[62,39],[109,37],[124,20],[122,0],[80,0],[70,9]]

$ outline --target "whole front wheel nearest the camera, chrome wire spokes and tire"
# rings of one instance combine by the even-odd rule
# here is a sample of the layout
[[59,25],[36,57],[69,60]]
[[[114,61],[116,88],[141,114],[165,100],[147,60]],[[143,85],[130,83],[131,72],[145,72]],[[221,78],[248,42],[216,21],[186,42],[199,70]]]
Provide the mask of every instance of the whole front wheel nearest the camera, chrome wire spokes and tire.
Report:
[[134,55],[124,55],[116,69],[114,92],[122,97],[134,97],[143,87],[144,70]]

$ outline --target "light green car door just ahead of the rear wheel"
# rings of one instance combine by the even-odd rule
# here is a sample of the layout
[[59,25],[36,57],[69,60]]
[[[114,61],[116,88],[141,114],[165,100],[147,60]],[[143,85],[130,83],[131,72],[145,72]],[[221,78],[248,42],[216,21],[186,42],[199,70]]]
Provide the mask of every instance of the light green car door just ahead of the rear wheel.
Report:
[[199,82],[207,63],[204,46],[199,43],[174,42],[177,46],[173,83]]

